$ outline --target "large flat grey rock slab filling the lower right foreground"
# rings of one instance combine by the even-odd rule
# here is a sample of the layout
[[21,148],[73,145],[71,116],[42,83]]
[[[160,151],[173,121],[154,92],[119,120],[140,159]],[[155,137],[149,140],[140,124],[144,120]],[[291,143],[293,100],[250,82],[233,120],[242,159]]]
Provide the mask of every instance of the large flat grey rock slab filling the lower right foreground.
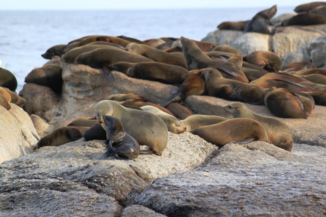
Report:
[[167,216],[322,216],[326,149],[315,158],[296,145],[227,144],[206,165],[155,180],[136,203]]

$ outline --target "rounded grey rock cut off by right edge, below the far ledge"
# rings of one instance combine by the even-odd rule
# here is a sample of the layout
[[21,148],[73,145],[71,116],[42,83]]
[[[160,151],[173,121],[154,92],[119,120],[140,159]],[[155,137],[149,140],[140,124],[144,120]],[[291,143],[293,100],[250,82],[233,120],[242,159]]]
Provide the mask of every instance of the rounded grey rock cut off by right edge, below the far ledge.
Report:
[[310,42],[310,58],[317,68],[326,66],[326,36],[314,38]]

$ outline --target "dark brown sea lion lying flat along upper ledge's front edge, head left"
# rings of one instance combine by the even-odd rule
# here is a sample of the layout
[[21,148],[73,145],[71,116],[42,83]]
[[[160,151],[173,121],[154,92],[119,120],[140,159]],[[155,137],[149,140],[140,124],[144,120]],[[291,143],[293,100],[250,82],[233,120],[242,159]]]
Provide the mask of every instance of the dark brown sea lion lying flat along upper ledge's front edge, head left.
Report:
[[157,62],[111,64],[112,70],[117,70],[132,78],[154,80],[168,84],[182,84],[190,74],[187,69],[177,65]]

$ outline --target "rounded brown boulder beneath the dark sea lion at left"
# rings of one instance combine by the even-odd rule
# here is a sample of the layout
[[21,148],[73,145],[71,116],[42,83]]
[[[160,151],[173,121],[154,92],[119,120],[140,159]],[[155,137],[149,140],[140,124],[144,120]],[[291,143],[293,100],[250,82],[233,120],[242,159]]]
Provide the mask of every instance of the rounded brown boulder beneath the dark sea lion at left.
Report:
[[36,114],[47,122],[56,115],[58,99],[51,88],[33,83],[24,84],[19,95],[26,100],[25,111],[28,114]]

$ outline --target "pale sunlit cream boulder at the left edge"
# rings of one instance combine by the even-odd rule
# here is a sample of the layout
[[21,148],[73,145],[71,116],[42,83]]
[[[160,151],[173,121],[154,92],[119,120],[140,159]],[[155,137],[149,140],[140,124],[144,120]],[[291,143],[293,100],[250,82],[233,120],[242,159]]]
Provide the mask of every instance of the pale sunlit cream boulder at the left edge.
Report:
[[10,106],[10,110],[0,106],[0,164],[32,153],[40,139],[28,114],[13,103]]

